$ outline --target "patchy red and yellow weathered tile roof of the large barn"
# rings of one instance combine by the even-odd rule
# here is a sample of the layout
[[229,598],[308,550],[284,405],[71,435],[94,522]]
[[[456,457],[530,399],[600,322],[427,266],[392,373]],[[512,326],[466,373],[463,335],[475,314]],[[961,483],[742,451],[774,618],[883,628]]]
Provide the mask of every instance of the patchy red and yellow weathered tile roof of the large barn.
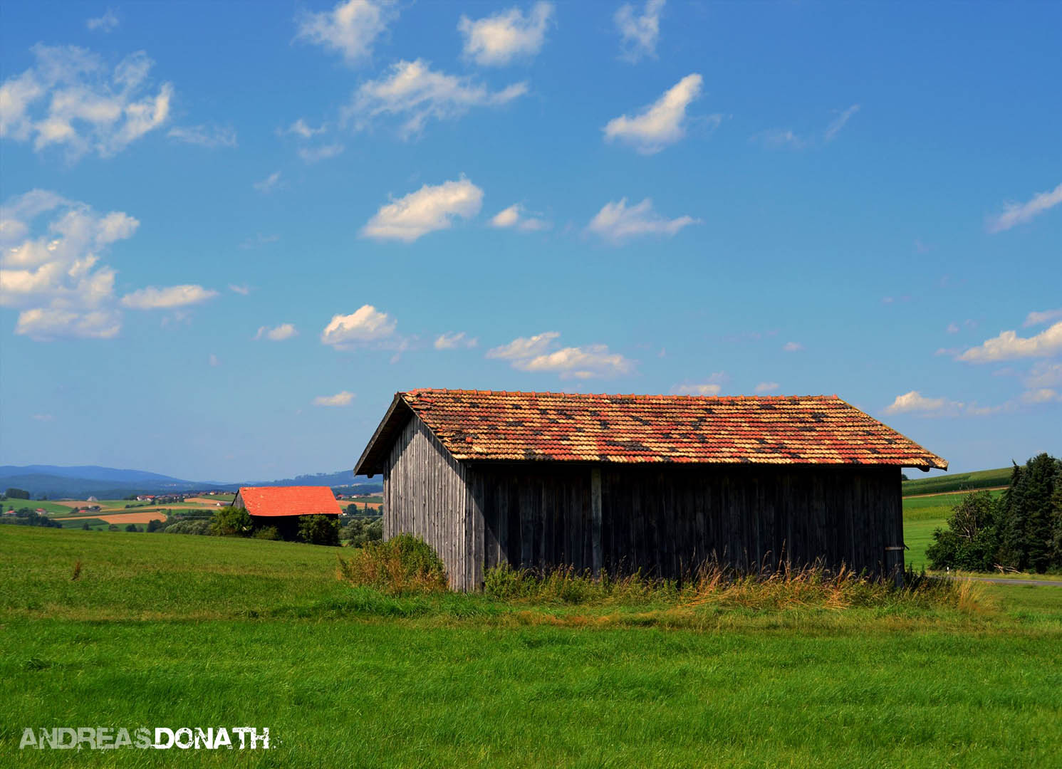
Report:
[[[836,395],[412,390],[396,394],[390,418],[402,417],[395,409],[399,400],[459,460],[947,467],[945,460]],[[361,472],[382,469],[372,469],[378,463],[370,457],[376,454],[372,448],[359,462]]]

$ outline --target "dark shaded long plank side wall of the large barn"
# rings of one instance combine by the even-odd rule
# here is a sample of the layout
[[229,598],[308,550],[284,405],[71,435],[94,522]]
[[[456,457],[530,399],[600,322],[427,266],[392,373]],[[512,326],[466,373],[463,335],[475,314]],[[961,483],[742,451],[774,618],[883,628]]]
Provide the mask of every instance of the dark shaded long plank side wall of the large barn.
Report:
[[[572,565],[676,577],[718,559],[744,569],[822,560],[887,570],[903,544],[895,467],[631,467],[599,465],[595,553],[592,467],[476,465],[467,472],[474,563]],[[476,584],[477,569],[469,574]]]

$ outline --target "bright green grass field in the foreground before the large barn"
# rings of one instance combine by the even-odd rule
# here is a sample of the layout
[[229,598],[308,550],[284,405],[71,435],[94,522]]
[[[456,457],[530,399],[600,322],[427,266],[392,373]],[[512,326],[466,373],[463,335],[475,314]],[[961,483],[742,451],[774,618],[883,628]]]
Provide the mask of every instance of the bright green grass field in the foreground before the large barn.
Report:
[[[59,724],[269,727],[277,749],[239,756],[267,767],[1047,767],[1062,739],[1057,588],[678,621],[388,597],[291,543],[3,527],[0,548],[4,753]],[[237,758],[193,753],[18,764]]]

